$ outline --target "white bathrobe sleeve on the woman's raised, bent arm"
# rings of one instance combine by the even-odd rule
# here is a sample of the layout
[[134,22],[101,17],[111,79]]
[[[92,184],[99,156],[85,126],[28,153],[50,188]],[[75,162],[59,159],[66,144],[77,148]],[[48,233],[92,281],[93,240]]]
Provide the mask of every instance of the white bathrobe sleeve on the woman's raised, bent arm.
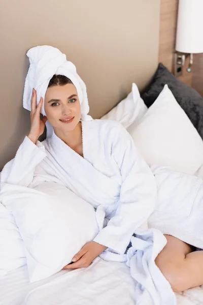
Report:
[[36,166],[45,157],[44,145],[40,141],[34,144],[25,136],[17,150],[15,158],[4,166],[0,175],[0,183],[28,187],[33,179]]

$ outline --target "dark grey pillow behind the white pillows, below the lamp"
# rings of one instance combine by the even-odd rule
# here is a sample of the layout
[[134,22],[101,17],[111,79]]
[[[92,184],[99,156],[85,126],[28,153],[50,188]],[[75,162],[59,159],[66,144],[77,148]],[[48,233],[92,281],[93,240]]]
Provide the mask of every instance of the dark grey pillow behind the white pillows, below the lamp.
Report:
[[181,80],[177,79],[163,64],[159,64],[151,83],[141,94],[149,108],[167,84],[181,108],[203,139],[203,98]]

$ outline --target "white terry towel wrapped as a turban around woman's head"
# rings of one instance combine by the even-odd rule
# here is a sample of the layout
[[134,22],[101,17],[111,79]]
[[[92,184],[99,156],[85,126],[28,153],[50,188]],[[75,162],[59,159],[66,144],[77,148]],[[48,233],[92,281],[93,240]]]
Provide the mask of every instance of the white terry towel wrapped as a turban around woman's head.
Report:
[[[24,93],[23,93],[23,107],[31,110],[30,101],[32,95],[32,88],[37,90],[37,104],[40,98],[45,98],[46,90],[49,81],[56,75],[64,75],[69,78],[75,85],[81,105],[81,119],[91,120],[92,117],[88,115],[89,104],[87,99],[86,85],[80,76],[77,74],[76,67],[72,62],[66,60],[66,55],[61,53],[57,48],[51,46],[37,46],[28,50],[29,70],[25,79]],[[46,115],[44,110],[44,103],[41,108],[41,113]],[[47,137],[51,136],[53,127],[46,122]]]

